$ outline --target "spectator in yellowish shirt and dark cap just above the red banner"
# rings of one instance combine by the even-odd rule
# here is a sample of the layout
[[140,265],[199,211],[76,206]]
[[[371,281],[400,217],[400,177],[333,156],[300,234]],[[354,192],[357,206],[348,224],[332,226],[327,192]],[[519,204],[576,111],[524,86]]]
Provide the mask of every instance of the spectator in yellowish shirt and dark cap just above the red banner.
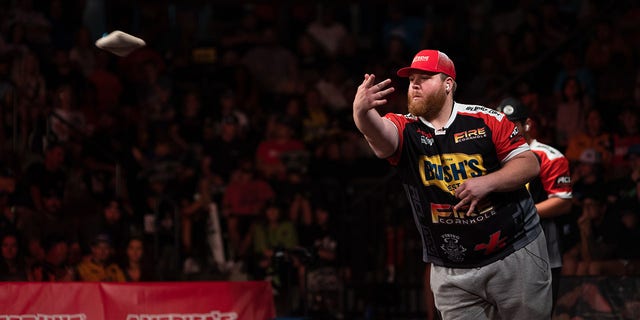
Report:
[[91,255],[78,265],[81,281],[125,282],[124,273],[112,259],[113,247],[107,234],[98,234],[91,242]]

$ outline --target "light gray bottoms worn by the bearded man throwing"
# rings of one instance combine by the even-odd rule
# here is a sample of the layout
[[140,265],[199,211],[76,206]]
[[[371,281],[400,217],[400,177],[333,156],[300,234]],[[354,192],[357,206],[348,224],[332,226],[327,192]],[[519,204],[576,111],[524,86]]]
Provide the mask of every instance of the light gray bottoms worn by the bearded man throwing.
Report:
[[550,319],[551,269],[544,234],[484,267],[431,265],[431,290],[445,320]]

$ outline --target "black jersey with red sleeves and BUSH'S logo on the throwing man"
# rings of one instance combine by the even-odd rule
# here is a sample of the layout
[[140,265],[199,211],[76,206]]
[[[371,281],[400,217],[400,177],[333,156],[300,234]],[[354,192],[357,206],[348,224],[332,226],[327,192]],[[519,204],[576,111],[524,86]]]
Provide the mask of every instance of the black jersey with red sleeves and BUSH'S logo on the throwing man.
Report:
[[475,212],[456,211],[456,188],[495,172],[529,146],[504,114],[454,103],[445,128],[413,115],[389,113],[399,145],[387,160],[398,169],[422,238],[423,259],[451,268],[481,267],[533,241],[542,231],[523,186],[487,195]]

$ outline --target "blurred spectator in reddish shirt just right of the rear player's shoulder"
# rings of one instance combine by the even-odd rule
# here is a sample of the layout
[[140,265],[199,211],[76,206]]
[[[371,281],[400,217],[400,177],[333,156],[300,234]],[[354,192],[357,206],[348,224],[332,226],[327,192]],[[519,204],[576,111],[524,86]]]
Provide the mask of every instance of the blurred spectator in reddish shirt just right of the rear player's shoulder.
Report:
[[597,109],[591,109],[587,113],[585,129],[569,137],[568,142],[565,154],[569,161],[575,162],[583,151],[593,149],[600,153],[603,165],[608,167],[611,163],[612,137],[610,132],[605,129],[602,116]]

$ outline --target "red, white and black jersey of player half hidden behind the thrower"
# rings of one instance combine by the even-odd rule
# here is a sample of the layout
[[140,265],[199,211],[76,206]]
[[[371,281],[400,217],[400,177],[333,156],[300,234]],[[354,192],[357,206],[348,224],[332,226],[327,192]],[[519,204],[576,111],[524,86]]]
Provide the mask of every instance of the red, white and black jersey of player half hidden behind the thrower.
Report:
[[[540,203],[549,198],[571,199],[569,160],[557,149],[537,140],[531,141],[529,147],[540,162],[540,174],[529,183],[533,202]],[[541,218],[540,224],[547,240],[551,268],[562,267],[560,235],[555,219]]]

